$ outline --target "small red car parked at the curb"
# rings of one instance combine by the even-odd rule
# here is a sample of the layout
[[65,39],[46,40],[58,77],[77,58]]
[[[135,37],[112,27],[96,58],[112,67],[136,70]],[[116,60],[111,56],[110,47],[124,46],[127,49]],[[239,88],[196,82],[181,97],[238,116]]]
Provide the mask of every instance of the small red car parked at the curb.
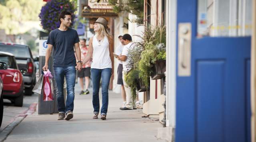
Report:
[[4,83],[3,98],[9,99],[17,107],[23,105],[24,82],[22,73],[27,69],[18,69],[16,59],[13,54],[0,51],[0,61],[6,62],[7,69],[0,70],[0,77]]

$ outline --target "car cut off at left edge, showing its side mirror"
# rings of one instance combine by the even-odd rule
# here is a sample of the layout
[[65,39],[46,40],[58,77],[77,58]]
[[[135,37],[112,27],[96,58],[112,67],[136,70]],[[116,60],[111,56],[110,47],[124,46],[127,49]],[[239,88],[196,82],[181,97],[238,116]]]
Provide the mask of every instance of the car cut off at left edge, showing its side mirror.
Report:
[[[5,62],[0,62],[0,70],[7,69],[7,64]],[[3,101],[3,81],[0,77],[0,128],[3,120],[4,114],[4,101]]]

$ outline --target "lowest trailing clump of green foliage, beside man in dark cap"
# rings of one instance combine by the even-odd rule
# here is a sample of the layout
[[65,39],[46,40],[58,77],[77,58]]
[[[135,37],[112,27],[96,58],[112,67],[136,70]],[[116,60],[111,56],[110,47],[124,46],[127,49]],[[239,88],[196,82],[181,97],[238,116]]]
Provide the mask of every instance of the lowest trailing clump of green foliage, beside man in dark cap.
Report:
[[138,83],[138,75],[139,70],[138,69],[132,69],[128,73],[124,74],[124,81],[126,84],[131,87],[131,93],[132,98],[136,98],[136,89],[137,89],[137,83]]

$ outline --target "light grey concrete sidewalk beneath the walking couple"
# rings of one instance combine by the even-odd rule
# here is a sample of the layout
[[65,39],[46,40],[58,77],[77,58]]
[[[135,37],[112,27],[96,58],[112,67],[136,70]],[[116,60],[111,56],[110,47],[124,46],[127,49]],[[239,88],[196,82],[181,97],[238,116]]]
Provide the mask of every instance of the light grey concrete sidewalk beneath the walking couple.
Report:
[[162,124],[142,118],[142,109],[119,110],[121,96],[112,91],[109,91],[107,120],[92,119],[92,89],[89,91],[89,95],[79,95],[80,87],[76,84],[74,118],[71,120],[57,120],[58,114],[38,115],[35,112],[16,126],[5,141],[164,142],[156,138]]

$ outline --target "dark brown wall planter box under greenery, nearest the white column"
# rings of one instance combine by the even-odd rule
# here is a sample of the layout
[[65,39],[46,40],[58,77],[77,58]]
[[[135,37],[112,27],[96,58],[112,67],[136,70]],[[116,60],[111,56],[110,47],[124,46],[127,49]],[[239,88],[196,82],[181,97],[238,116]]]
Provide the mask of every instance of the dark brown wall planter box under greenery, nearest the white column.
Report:
[[166,60],[158,60],[153,64],[151,78],[152,80],[162,79],[166,71]]

